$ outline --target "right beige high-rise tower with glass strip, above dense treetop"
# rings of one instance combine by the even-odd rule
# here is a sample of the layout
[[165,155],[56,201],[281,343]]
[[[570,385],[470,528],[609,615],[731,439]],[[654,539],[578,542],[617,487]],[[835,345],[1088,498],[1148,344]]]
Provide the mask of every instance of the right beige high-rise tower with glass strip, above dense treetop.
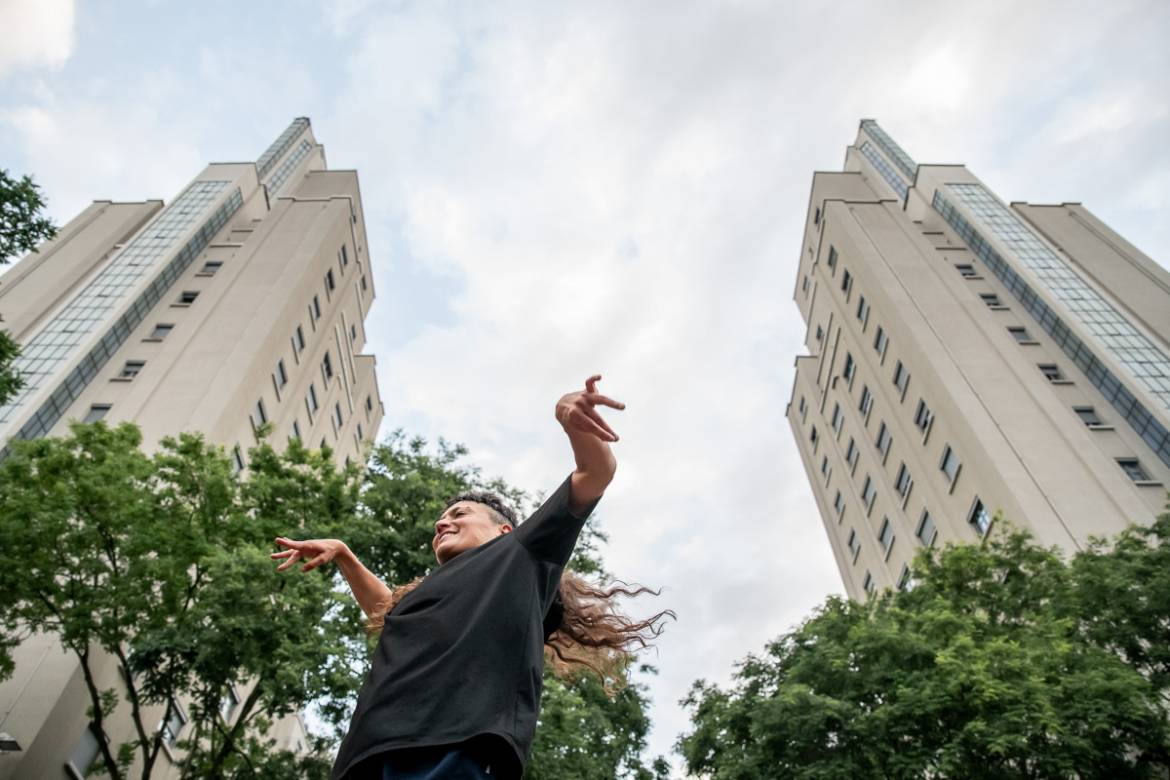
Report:
[[1006,203],[873,120],[813,175],[787,416],[845,588],[993,518],[1066,551],[1170,484],[1170,274],[1080,203]]

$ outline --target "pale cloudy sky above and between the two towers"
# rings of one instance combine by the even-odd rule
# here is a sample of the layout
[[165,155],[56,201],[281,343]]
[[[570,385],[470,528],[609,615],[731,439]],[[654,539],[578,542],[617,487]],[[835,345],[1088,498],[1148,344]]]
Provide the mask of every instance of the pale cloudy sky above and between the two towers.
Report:
[[531,491],[601,373],[608,567],[691,681],[841,592],[784,408],[811,174],[861,117],[1006,200],[1082,201],[1170,262],[1170,4],[0,0],[0,167],[63,222],[172,198],[296,116],[359,171],[386,405]]

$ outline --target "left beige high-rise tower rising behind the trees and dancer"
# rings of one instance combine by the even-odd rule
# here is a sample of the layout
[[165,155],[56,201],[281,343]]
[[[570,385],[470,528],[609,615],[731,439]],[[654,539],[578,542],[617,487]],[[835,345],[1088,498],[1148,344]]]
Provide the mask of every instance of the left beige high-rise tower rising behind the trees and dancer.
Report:
[[[373,294],[357,172],[328,170],[298,118],[255,163],[208,165],[167,205],[94,202],[0,276],[0,326],[22,345],[26,381],[0,406],[0,446],[67,434],[69,420],[131,420],[147,450],[198,430],[246,469],[268,422],[277,447],[297,436],[358,460],[383,416],[362,354]],[[46,636],[15,660],[0,733],[19,751],[0,752],[0,779],[85,776],[97,743],[78,664]],[[113,663],[97,684],[121,685]],[[168,743],[183,737],[181,707],[147,717]],[[131,732],[115,713],[108,738]],[[285,718],[273,736],[297,750],[304,724]],[[177,776],[163,764],[159,776]]]

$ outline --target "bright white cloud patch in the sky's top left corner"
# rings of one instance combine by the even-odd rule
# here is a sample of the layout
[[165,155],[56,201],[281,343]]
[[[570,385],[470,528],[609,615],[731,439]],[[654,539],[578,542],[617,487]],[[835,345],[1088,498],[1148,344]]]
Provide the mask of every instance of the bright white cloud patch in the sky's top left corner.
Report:
[[0,78],[21,68],[60,68],[74,46],[73,0],[0,0]]

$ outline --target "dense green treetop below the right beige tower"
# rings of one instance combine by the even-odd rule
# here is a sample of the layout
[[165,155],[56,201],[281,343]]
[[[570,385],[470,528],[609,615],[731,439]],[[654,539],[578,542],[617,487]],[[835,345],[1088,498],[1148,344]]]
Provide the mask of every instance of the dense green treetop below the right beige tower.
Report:
[[1162,776],[1168,523],[1072,564],[1013,530],[922,551],[913,589],[831,598],[730,689],[696,682],[677,748],[718,780]]

